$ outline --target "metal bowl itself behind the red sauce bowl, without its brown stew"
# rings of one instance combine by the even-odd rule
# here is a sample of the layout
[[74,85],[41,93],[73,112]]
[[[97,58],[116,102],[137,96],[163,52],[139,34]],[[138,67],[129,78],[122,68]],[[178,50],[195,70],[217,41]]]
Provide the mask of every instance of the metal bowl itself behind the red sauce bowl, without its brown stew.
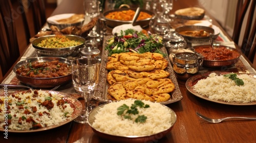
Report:
[[[184,34],[181,34],[180,32],[183,31],[199,31],[199,30],[204,30],[207,33],[212,33],[214,34],[214,29],[210,28],[210,27],[205,27],[205,26],[181,26],[175,29],[175,31],[180,34],[185,40],[186,42],[189,43],[202,43],[202,42],[209,42],[210,40],[210,35],[208,36],[204,36],[204,37],[194,37],[194,36],[187,36]],[[218,37],[218,36],[217,36]],[[214,38],[217,38],[216,36],[214,36]]]

